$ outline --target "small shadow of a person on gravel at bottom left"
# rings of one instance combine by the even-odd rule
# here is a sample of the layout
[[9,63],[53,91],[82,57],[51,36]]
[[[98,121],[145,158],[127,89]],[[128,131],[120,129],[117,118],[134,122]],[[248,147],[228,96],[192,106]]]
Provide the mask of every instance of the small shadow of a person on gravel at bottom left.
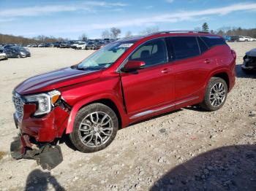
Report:
[[[48,185],[51,185],[53,187],[52,189],[49,189]],[[52,175],[50,175],[50,172],[43,172],[39,169],[36,169],[34,171],[31,171],[29,176],[26,179],[26,187],[24,189],[25,191],[45,191],[45,190],[58,190],[58,191],[64,191],[64,187],[61,187],[59,182],[56,180],[56,178]]]

